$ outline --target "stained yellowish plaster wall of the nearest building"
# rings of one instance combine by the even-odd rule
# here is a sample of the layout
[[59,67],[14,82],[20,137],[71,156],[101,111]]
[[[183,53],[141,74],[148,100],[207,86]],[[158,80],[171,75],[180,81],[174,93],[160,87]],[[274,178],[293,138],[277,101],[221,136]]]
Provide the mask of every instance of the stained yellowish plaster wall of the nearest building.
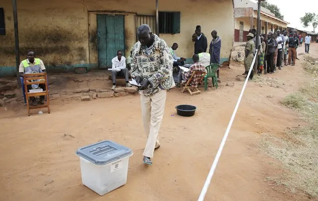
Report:
[[[0,36],[0,76],[5,76],[15,73],[14,29],[11,0],[1,2],[6,35]],[[64,72],[76,66],[97,68],[94,11],[125,12],[125,53],[128,54],[136,42],[135,14],[155,15],[155,0],[23,0],[17,2],[17,9],[20,60],[32,49],[50,71]],[[212,9],[218,12],[211,12]],[[160,34],[169,46],[174,42],[179,44],[178,56],[192,57],[191,36],[200,24],[208,43],[212,40],[211,31],[218,32],[222,39],[221,58],[229,58],[234,36],[232,0],[183,0],[182,3],[159,0],[159,10],[181,11],[180,34]]]

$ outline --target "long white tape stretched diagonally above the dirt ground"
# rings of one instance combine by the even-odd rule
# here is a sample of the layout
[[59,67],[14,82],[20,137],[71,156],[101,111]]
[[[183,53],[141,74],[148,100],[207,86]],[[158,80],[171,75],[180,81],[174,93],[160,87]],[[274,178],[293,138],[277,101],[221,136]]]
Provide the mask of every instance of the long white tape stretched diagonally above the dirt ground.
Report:
[[225,134],[224,134],[223,139],[222,139],[222,141],[221,141],[221,144],[220,144],[220,146],[219,146],[219,148],[218,148],[218,150],[217,150],[217,153],[216,153],[216,156],[215,156],[215,158],[214,158],[213,164],[212,164],[212,166],[211,166],[209,175],[208,175],[208,177],[207,177],[206,183],[205,183],[204,186],[203,186],[203,189],[202,189],[202,191],[201,191],[201,194],[200,194],[200,197],[199,197],[198,201],[204,201],[204,198],[206,197],[206,194],[207,194],[208,188],[209,188],[209,186],[210,186],[210,183],[211,183],[211,180],[212,180],[212,177],[213,177],[215,168],[216,168],[216,166],[217,166],[218,160],[220,159],[220,156],[221,156],[223,147],[224,147],[224,145],[225,145],[225,141],[226,141],[227,136],[228,136],[228,133],[229,133],[231,127],[232,127],[232,123],[233,123],[233,120],[234,120],[234,118],[235,118],[235,114],[236,114],[236,112],[237,112],[239,103],[240,103],[241,100],[242,100],[242,97],[243,97],[243,94],[244,94],[244,91],[245,91],[245,88],[246,88],[246,85],[247,85],[247,82],[248,82],[248,78],[249,78],[249,76],[251,75],[252,69],[253,69],[253,67],[254,67],[255,59],[256,59],[256,57],[257,57],[257,52],[258,52],[258,50],[256,50],[255,56],[254,56],[254,58],[253,58],[252,65],[251,65],[251,67],[249,68],[249,71],[248,71],[248,74],[247,74],[245,83],[244,83],[244,85],[243,85],[241,94],[240,94],[239,97],[238,97],[238,100],[237,100],[237,102],[236,102],[234,111],[233,111],[233,113],[232,113],[232,117],[231,117],[231,119],[230,119],[230,121],[229,121],[229,123],[228,123],[228,125],[227,125]]

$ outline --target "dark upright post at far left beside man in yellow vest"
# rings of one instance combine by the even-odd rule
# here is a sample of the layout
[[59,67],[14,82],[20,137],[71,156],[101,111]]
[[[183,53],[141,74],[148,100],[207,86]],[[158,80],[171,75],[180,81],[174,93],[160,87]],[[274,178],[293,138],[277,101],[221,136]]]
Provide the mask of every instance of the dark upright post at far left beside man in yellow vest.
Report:
[[12,0],[12,7],[13,7],[13,23],[14,23],[16,82],[18,87],[21,87],[21,81],[19,77],[20,51],[19,51],[19,30],[18,30],[18,21],[17,21],[16,0]]

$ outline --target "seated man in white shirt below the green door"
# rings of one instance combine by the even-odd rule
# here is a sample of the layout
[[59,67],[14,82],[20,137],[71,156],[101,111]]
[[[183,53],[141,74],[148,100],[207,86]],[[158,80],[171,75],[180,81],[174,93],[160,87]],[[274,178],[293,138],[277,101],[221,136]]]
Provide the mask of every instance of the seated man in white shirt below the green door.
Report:
[[131,87],[129,84],[129,74],[128,69],[126,68],[126,58],[122,56],[121,50],[117,51],[117,56],[111,60],[111,79],[112,79],[112,88],[116,88],[116,76],[124,76],[126,81],[126,87]]

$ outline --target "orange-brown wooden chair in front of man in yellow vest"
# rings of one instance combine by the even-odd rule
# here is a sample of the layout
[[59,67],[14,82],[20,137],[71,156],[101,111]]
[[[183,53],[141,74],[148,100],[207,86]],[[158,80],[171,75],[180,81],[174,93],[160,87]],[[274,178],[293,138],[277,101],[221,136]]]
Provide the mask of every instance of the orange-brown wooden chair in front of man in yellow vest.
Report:
[[[29,82],[30,80],[41,80],[36,82]],[[36,108],[44,108],[47,107],[48,113],[50,113],[50,99],[49,99],[49,88],[47,84],[47,75],[46,73],[32,73],[32,74],[24,74],[23,75],[23,82],[24,82],[24,91],[25,91],[25,99],[26,99],[26,108],[27,113],[30,116],[30,109],[36,109]],[[29,93],[27,90],[28,85],[33,84],[45,84],[46,91],[38,92],[38,93]],[[47,101],[44,102],[44,104],[41,105],[30,105],[29,103],[29,97],[36,97],[36,96],[46,96]]]

